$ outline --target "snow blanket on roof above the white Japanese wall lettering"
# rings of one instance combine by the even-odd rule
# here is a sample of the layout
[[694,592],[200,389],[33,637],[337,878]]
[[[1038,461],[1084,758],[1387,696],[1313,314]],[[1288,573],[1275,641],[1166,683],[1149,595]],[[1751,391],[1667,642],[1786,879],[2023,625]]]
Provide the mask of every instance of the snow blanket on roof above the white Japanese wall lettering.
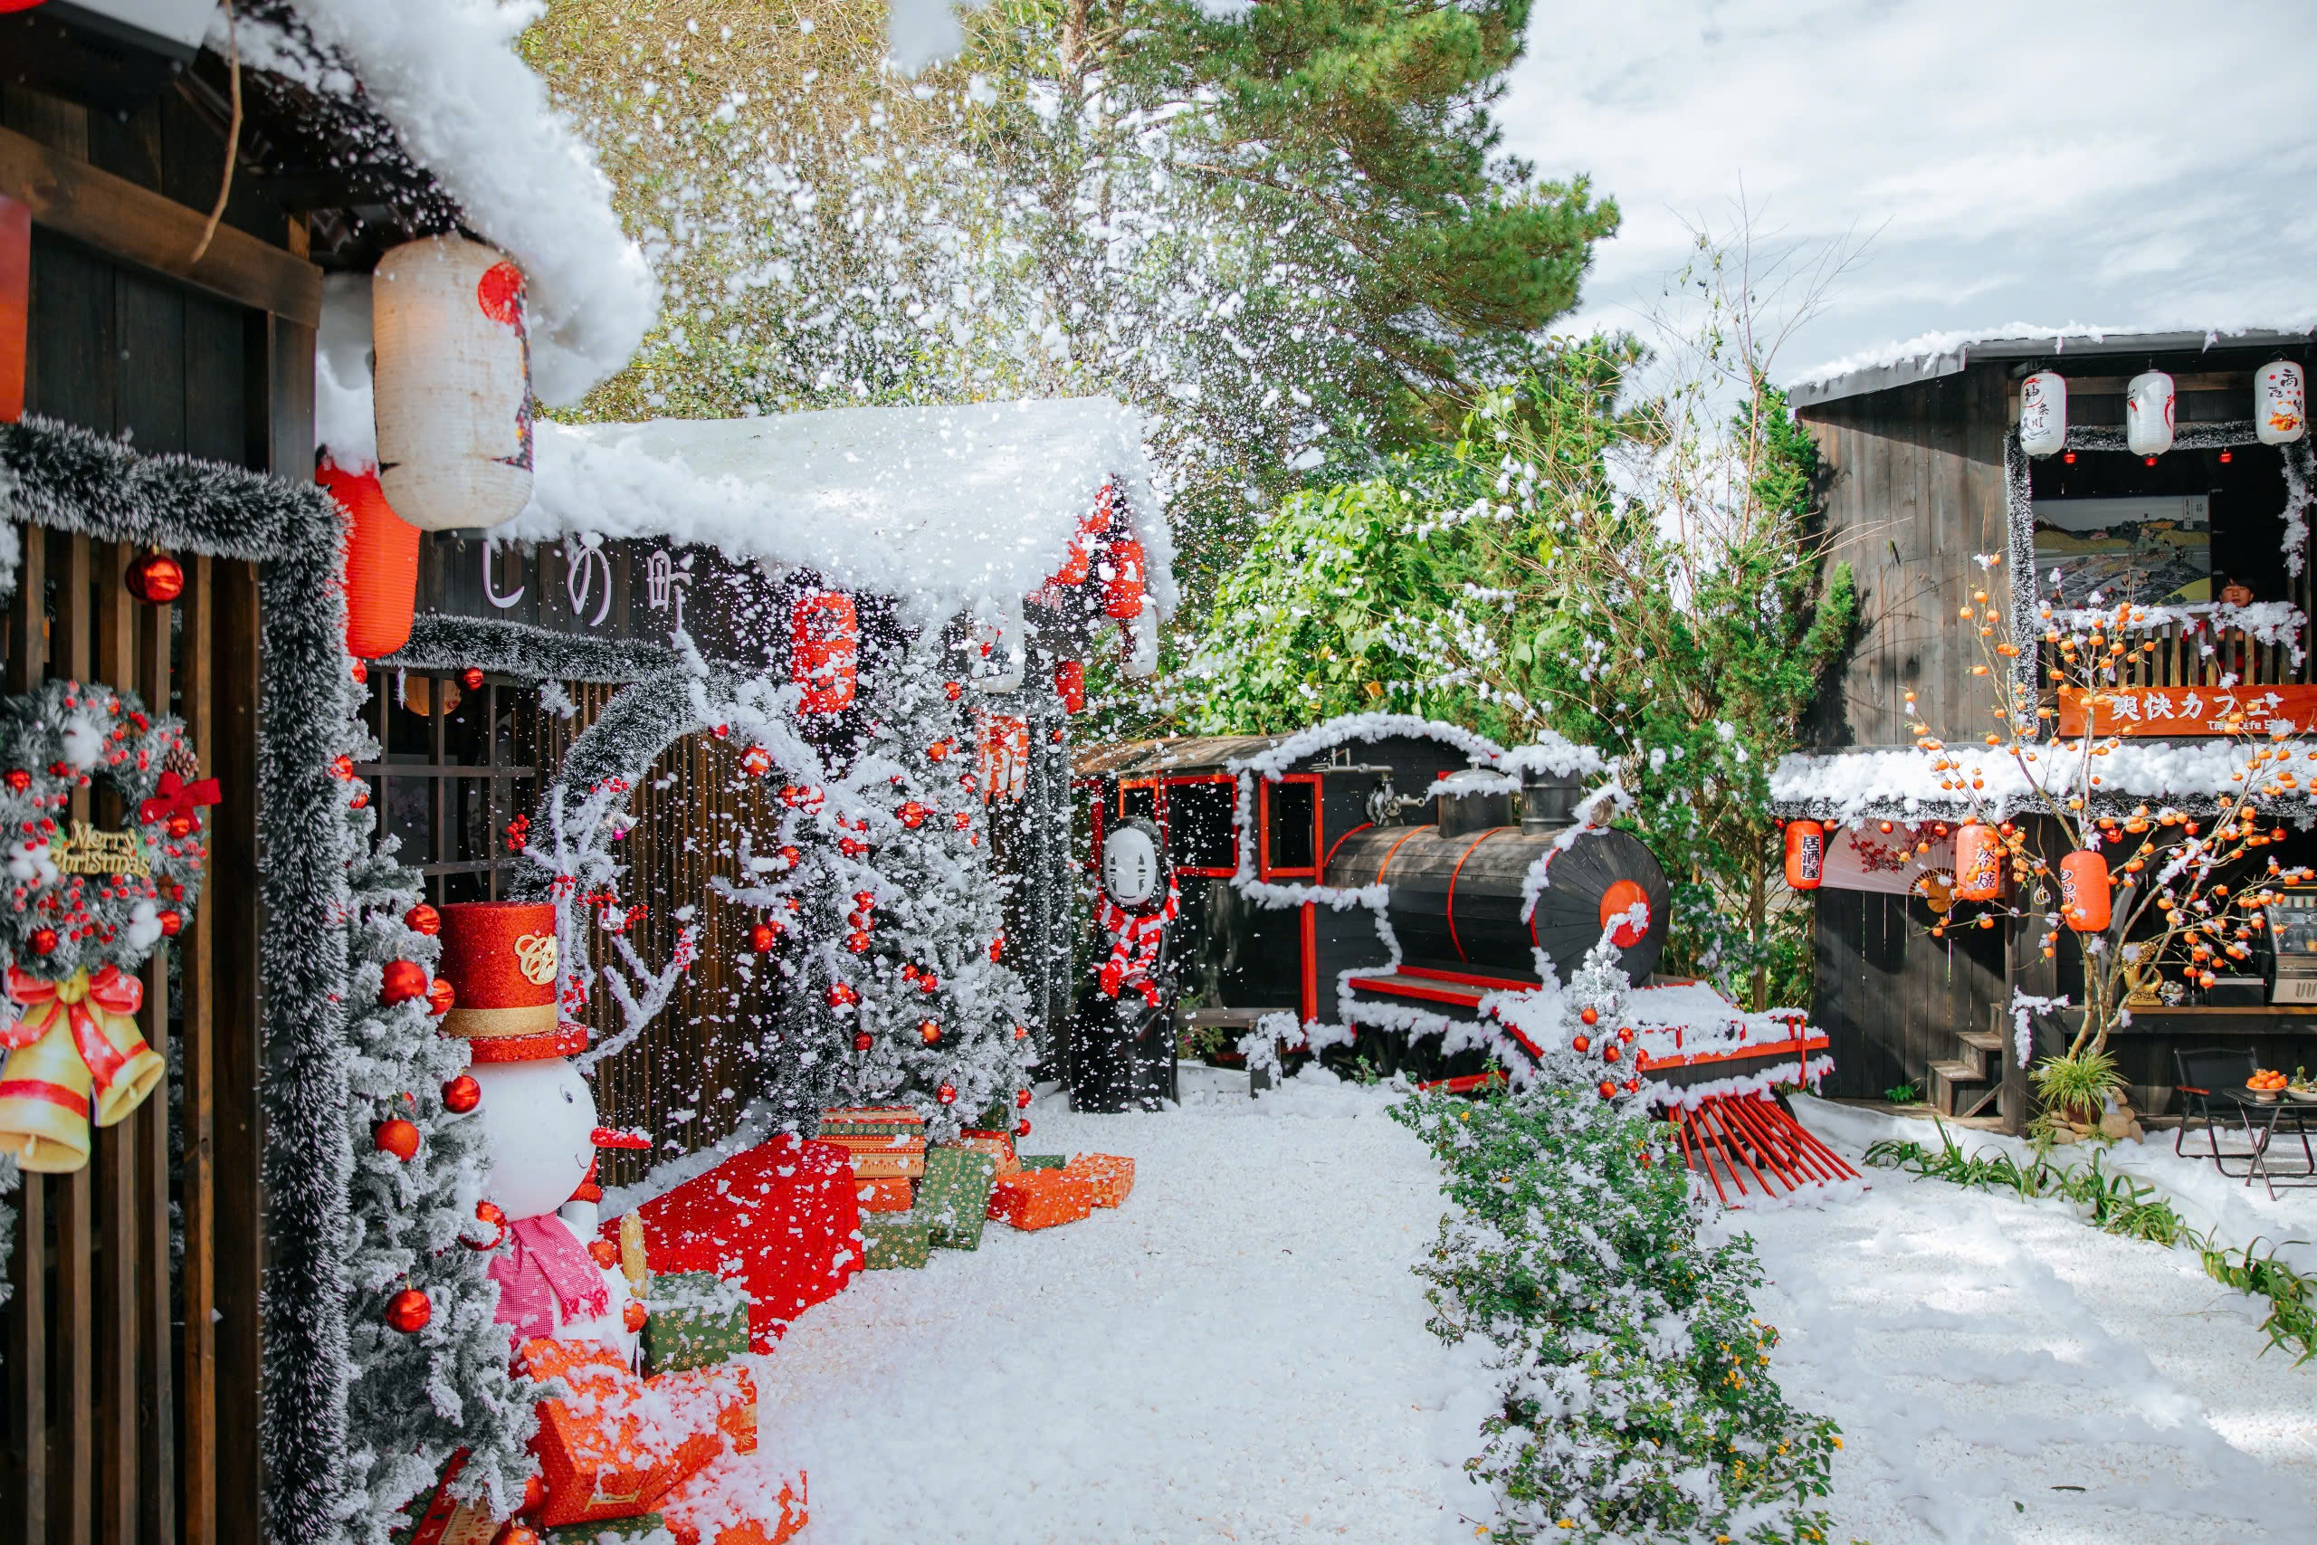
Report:
[[1126,491],[1149,593],[1172,612],[1175,544],[1142,415],[1108,396],[540,424],[531,507],[496,535],[697,542],[813,568],[934,621],[1043,586],[1105,477]]

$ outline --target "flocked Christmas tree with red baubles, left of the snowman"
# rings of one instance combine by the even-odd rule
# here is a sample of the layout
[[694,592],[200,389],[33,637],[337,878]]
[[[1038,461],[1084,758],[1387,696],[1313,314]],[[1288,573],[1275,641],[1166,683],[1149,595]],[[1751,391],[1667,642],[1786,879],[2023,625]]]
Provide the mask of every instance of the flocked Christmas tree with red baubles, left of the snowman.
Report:
[[466,1114],[475,1107],[466,1042],[436,1031],[429,1003],[440,924],[422,906],[417,873],[394,859],[396,841],[373,852],[375,811],[348,806],[345,820],[361,855],[348,876],[355,1445],[345,1485],[355,1538],[385,1545],[396,1510],[422,1499],[459,1450],[454,1494],[480,1496],[494,1517],[512,1513],[535,1415],[494,1320],[498,1286],[487,1269],[500,1223],[482,1204],[489,1156],[482,1123]]

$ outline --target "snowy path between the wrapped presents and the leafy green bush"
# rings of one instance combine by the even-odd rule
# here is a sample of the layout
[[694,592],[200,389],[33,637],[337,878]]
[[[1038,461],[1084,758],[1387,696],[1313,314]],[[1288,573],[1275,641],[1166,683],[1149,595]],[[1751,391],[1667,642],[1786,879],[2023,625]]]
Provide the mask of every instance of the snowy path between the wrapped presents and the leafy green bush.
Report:
[[1029,1110],[1024,1151],[1133,1156],[1124,1207],[867,1272],[755,1360],[809,1538],[1471,1543],[1488,1378],[1413,1274],[1439,1167],[1383,1086],[1182,1075],[1165,1114]]

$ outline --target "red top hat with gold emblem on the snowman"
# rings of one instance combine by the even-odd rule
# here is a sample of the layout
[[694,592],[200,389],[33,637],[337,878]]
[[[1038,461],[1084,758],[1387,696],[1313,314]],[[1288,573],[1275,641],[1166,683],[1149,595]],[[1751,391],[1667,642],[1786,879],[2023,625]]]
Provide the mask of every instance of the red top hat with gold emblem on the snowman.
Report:
[[586,1026],[556,1008],[556,908],[549,901],[452,901],[443,908],[447,1035],[463,1035],[477,1063],[517,1063],[586,1052]]

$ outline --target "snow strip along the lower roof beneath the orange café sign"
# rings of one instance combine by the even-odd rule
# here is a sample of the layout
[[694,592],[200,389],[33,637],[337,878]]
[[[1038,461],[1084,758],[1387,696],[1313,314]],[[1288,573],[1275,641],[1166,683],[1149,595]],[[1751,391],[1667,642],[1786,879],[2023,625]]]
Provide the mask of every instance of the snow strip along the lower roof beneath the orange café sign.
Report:
[[[2317,762],[2317,741],[2268,741],[2266,746],[2282,748],[2296,760]],[[2027,785],[2027,774],[2011,760],[2011,753],[1986,746],[1949,746],[1944,755],[1962,764],[1967,781],[1983,783],[1983,788],[1972,790],[1979,808],[2011,815],[2039,804],[2039,795]],[[2078,753],[2074,741],[2055,741],[2037,746],[2034,755],[2071,757]],[[2092,764],[2099,776],[2095,795],[2148,801],[2222,795],[2243,785],[2245,755],[2245,746],[2229,739],[2120,741],[2115,750]],[[1932,769],[1935,760],[1914,746],[1842,753],[1791,750],[1770,771],[1770,801],[1784,811],[1807,811],[1840,822],[1953,813],[1965,804],[1965,797],[1939,788],[1942,774]],[[2053,785],[2071,783],[2057,774],[2046,781]],[[2305,781],[2303,799],[2310,783],[2317,778]],[[2287,797],[2266,797],[2264,804],[2275,808],[2287,804]]]

